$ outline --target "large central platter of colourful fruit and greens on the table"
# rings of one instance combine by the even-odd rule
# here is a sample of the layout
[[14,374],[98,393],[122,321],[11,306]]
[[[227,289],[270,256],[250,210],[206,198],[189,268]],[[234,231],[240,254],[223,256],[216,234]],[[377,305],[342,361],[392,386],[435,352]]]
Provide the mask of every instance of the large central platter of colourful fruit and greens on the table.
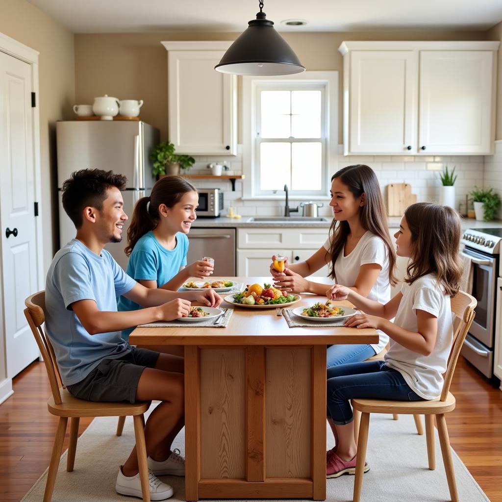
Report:
[[242,293],[225,296],[224,300],[232,305],[251,309],[273,309],[287,307],[300,301],[300,295],[291,295],[282,292],[270,284],[248,284]]

